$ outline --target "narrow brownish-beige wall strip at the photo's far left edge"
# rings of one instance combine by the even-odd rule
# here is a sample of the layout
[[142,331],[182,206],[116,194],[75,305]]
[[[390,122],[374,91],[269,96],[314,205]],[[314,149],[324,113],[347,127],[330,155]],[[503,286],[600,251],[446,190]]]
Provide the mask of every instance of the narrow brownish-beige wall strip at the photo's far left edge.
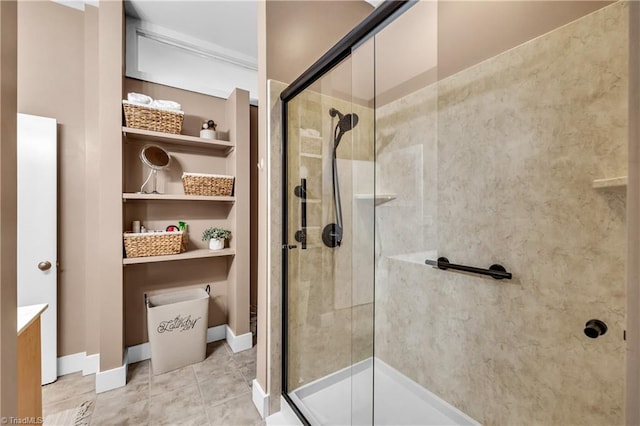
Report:
[[17,5],[0,2],[0,416],[17,415]]

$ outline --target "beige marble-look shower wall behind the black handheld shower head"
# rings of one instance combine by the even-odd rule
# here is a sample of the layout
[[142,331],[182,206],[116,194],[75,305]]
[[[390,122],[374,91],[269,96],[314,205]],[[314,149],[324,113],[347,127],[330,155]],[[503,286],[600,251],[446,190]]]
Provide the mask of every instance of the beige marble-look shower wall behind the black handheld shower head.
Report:
[[[337,117],[355,112],[358,125],[337,151],[344,238],[336,248],[322,230],[336,222],[333,202],[333,130]],[[373,352],[373,110],[312,90],[288,104],[288,388],[296,389]],[[286,172],[286,171],[283,171]],[[301,229],[300,178],[307,184],[307,248],[294,241]]]

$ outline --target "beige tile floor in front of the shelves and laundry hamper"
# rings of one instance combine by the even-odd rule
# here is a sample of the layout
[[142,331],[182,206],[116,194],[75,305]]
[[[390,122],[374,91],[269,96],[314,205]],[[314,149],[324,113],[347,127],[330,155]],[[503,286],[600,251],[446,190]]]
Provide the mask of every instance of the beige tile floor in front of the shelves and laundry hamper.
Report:
[[42,388],[45,425],[55,424],[47,416],[54,419],[87,401],[92,404],[81,422],[86,425],[265,424],[251,401],[255,347],[234,354],[226,342],[214,342],[198,364],[158,376],[150,370],[149,361],[131,364],[125,387],[98,395],[93,375],[58,378]]

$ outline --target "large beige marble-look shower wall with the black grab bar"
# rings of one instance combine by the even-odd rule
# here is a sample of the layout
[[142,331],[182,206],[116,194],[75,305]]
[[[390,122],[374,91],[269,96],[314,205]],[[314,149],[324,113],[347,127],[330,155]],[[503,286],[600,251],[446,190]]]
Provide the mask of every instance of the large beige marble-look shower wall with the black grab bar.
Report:
[[[375,355],[483,424],[624,422],[627,9],[376,111]],[[514,278],[389,258],[429,249]]]

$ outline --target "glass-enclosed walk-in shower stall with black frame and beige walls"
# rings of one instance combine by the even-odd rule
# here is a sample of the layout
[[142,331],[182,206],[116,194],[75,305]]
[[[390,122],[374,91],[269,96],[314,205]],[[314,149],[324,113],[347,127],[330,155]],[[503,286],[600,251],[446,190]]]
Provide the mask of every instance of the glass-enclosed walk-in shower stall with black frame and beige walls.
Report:
[[385,2],[271,82],[303,423],[624,423],[629,9]]

